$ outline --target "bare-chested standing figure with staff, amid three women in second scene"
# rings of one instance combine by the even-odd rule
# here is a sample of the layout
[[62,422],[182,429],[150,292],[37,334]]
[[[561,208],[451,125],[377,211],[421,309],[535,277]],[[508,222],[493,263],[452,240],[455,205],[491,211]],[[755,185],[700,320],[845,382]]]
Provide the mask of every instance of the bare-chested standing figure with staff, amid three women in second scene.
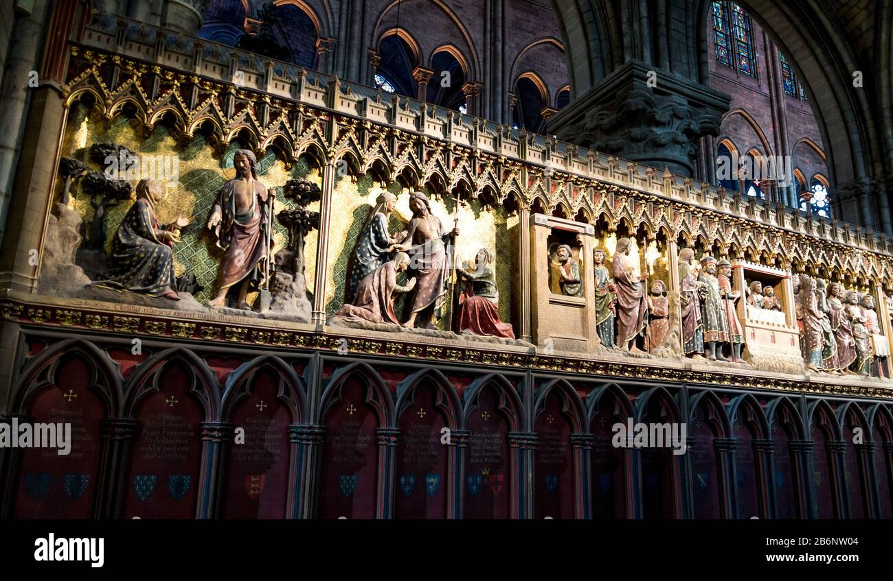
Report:
[[[447,296],[447,280],[450,273],[447,244],[451,237],[459,235],[459,229],[446,230],[440,218],[431,214],[431,204],[422,192],[414,192],[409,198],[413,219],[405,240],[394,244],[392,250],[407,252],[410,257],[410,275],[416,279],[411,299],[411,312],[407,327],[434,328],[435,313],[443,306]],[[421,315],[421,319],[416,319]]]

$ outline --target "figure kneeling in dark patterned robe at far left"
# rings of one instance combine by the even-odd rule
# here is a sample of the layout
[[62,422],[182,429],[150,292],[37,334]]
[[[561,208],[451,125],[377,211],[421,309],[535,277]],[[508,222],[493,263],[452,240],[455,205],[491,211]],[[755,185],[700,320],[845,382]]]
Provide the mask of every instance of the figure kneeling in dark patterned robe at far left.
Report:
[[96,286],[179,300],[173,289],[173,244],[179,242],[180,228],[188,225],[189,219],[178,217],[173,224],[159,225],[155,206],[165,196],[158,180],[144,179],[137,184],[137,201],[112,241],[108,278],[95,282]]

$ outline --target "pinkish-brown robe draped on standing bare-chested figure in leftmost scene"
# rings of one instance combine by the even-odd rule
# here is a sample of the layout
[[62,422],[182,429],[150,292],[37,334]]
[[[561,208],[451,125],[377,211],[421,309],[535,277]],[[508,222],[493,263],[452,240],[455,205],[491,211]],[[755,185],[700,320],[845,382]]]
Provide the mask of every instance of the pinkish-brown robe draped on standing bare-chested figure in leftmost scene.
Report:
[[269,259],[267,224],[269,211],[267,189],[257,180],[251,209],[244,215],[236,214],[236,185],[239,180],[223,184],[212,213],[221,213],[220,224],[214,227],[217,245],[226,251],[221,263],[221,289],[242,282],[246,278],[250,288],[263,284],[263,263]]

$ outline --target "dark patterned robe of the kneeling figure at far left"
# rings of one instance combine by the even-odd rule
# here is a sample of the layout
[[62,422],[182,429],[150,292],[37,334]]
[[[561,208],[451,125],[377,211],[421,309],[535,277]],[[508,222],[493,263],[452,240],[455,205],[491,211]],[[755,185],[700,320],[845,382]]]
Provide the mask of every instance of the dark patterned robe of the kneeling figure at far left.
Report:
[[96,286],[142,292],[158,297],[176,284],[173,249],[163,242],[163,228],[146,200],[138,199],[118,226],[108,256],[107,280]]

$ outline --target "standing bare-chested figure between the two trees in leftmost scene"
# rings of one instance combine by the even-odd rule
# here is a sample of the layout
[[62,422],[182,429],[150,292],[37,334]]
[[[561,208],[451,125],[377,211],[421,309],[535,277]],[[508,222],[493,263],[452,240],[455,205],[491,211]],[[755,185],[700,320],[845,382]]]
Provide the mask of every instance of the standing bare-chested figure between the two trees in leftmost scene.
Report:
[[208,218],[208,230],[217,246],[226,252],[221,263],[220,290],[210,305],[225,307],[227,293],[238,285],[238,308],[251,310],[246,295],[249,290],[261,288],[269,269],[275,194],[258,181],[253,151],[236,151],[233,167],[236,177],[223,184]]

